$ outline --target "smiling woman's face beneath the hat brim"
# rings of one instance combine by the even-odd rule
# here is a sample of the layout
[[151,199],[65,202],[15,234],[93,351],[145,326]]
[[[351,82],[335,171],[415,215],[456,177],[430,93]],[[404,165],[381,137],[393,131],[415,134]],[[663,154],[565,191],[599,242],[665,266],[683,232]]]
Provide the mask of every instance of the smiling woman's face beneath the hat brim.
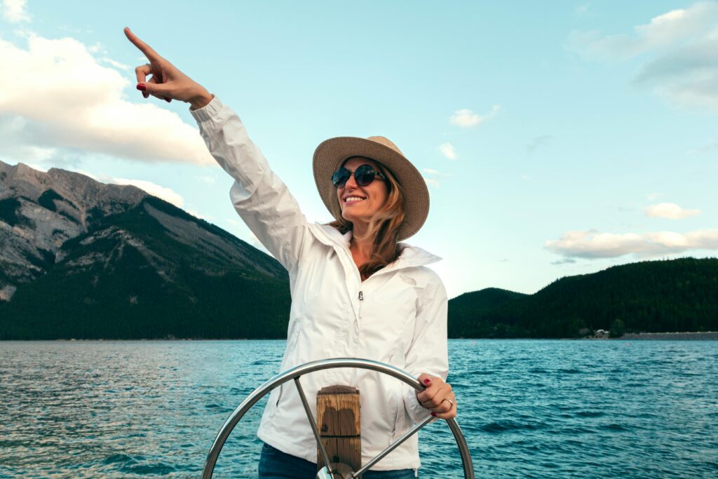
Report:
[[[363,164],[370,164],[376,171],[380,171],[375,161],[364,157],[352,157],[342,166],[350,172],[355,172]],[[344,186],[337,188],[342,217],[355,225],[356,223],[369,223],[373,215],[386,202],[387,197],[386,181],[378,176],[374,177],[374,181],[368,185],[359,186],[354,180],[354,175],[351,175]]]

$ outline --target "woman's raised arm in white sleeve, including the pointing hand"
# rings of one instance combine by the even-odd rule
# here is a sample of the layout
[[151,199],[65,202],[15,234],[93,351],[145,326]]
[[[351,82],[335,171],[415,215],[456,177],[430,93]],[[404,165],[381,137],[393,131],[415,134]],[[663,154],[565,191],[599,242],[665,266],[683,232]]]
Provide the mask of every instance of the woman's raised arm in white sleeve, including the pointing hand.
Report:
[[239,117],[129,28],[124,32],[149,61],[135,68],[137,89],[144,98],[151,95],[190,103],[190,112],[210,153],[235,179],[230,190],[235,209],[259,241],[291,271],[309,236],[307,221],[284,182],[269,169],[264,155],[249,139]]

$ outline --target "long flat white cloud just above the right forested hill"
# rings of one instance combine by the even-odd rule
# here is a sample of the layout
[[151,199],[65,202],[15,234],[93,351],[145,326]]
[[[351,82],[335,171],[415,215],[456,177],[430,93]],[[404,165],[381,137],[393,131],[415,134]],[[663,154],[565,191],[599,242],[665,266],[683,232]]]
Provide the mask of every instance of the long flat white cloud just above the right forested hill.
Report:
[[546,241],[544,247],[567,258],[602,259],[627,254],[661,256],[693,249],[718,249],[718,229],[685,234],[672,231],[640,234],[568,231],[558,240]]

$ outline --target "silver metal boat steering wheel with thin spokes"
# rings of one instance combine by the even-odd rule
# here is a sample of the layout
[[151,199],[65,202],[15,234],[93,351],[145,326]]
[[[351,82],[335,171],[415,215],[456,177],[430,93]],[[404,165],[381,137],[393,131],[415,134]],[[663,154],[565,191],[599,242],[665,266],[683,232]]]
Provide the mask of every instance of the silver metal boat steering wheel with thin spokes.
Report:
[[[220,455],[220,452],[222,450],[222,447],[224,446],[225,442],[227,441],[229,435],[233,431],[233,429],[236,427],[237,423],[242,419],[244,414],[249,411],[249,409],[254,406],[260,399],[262,399],[266,394],[269,394],[270,391],[275,389],[278,386],[281,386],[282,384],[288,382],[288,381],[295,381],[295,384],[297,385],[297,389],[299,389],[299,394],[302,397],[304,409],[307,412],[309,422],[312,427],[312,431],[314,432],[314,437],[316,438],[318,436],[316,431],[316,423],[314,422],[314,418],[312,417],[311,412],[308,409],[308,405],[306,404],[306,400],[304,398],[304,392],[301,389],[301,385],[299,383],[299,378],[301,376],[304,376],[304,374],[313,373],[314,371],[322,371],[323,369],[335,369],[335,368],[359,368],[359,369],[370,369],[372,371],[377,371],[379,373],[386,374],[388,376],[392,376],[393,378],[398,379],[399,381],[403,381],[406,384],[409,384],[409,386],[416,389],[416,391],[423,391],[424,386],[419,383],[419,381],[414,378],[414,376],[411,376],[409,373],[406,373],[406,371],[402,371],[399,368],[395,368],[394,366],[390,366],[388,364],[379,363],[378,361],[370,361],[368,359],[358,359],[358,358],[332,358],[332,359],[322,359],[319,361],[312,361],[310,363],[304,363],[300,366],[288,369],[287,371],[284,371],[283,373],[279,373],[274,378],[269,379],[269,381],[266,381],[264,384],[259,386],[257,389],[251,392],[249,396],[247,396],[244,401],[237,406],[237,408],[230,414],[230,417],[225,421],[222,428],[220,429],[220,432],[218,432],[217,437],[215,437],[214,442],[212,443],[212,447],[210,448],[210,452],[207,455],[207,460],[205,461],[205,468],[202,470],[202,479],[211,479],[212,475],[214,473],[215,464],[218,460],[218,457]],[[411,434],[414,434],[415,432],[419,431],[421,427],[424,427],[424,425],[428,424],[431,421],[432,418],[427,419],[423,423],[417,424],[414,428],[412,428],[407,434],[404,435],[404,437],[401,437],[399,440],[393,442],[392,445],[387,448],[388,450],[384,450],[381,452],[377,457],[379,459],[383,458],[384,455],[388,454],[388,452],[391,452],[393,450],[393,447],[397,447],[401,442],[408,439]],[[469,452],[469,448],[466,444],[466,440],[464,438],[464,434],[461,432],[461,428],[459,427],[459,424],[457,424],[455,419],[446,419],[447,424],[449,425],[449,429],[451,429],[452,434],[454,434],[454,440],[456,441],[457,446],[459,447],[459,452],[461,455],[461,460],[464,466],[464,478],[465,479],[474,479],[474,467],[473,463],[471,462],[471,454]],[[321,441],[318,442],[320,449],[323,450]],[[374,459],[377,459],[375,457]],[[378,462],[378,460],[376,461]],[[375,463],[376,463],[375,462]],[[328,464],[328,462],[327,462]]]

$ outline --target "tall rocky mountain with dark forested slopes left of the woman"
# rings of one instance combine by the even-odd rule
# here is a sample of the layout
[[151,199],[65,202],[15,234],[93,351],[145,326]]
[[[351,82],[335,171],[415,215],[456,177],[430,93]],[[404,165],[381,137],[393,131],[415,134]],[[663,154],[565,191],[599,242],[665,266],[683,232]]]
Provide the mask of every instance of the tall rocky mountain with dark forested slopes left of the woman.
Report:
[[0,339],[283,338],[286,271],[133,186],[0,162]]

